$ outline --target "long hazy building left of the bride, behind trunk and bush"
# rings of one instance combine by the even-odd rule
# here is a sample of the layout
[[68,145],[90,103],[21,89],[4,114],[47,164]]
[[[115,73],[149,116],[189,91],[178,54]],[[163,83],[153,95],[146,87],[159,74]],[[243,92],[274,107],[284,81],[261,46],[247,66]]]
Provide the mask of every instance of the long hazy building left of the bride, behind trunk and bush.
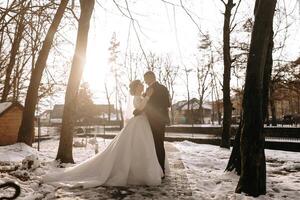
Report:
[[[96,119],[107,120],[108,113],[111,112],[111,119],[114,120],[115,109],[114,105],[106,104],[94,104],[93,105],[93,115]],[[56,104],[50,113],[50,123],[51,124],[61,124],[64,111],[64,104]]]

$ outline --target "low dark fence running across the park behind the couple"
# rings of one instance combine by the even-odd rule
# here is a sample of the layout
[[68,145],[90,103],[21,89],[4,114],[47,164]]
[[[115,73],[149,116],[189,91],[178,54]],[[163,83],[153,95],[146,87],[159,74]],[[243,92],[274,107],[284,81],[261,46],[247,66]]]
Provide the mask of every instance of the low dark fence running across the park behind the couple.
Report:
[[[75,134],[78,137],[94,137],[114,138],[120,131],[117,126],[81,126],[78,129],[82,132]],[[238,127],[233,126],[231,129],[231,141]],[[88,131],[87,131],[88,130]],[[295,127],[265,127],[266,148],[297,151],[300,152],[300,128]],[[221,140],[222,127],[217,126],[169,126],[166,128],[166,141],[183,141],[189,140],[199,144],[219,145]],[[41,137],[40,140],[47,137]]]

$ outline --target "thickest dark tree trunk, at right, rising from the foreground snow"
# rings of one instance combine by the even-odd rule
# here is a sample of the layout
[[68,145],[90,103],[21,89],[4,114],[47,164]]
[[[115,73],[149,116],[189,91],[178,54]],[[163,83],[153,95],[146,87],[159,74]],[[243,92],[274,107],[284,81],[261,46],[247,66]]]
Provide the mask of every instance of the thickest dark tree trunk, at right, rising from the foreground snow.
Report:
[[[263,134],[263,77],[271,39],[276,0],[257,0],[243,97],[241,176],[236,188],[257,197],[266,193]],[[254,95],[255,94],[255,95]]]

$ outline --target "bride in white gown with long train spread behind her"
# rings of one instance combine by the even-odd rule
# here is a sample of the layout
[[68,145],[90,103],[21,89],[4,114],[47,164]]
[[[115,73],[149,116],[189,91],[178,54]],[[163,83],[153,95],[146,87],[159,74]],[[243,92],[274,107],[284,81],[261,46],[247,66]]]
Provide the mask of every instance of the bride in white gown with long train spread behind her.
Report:
[[[143,110],[152,91],[143,97],[140,80],[132,81],[129,88],[134,108]],[[168,171],[167,162],[165,168]],[[159,185],[163,176],[148,119],[141,114],[131,118],[102,153],[63,172],[47,174],[43,182],[83,187]]]

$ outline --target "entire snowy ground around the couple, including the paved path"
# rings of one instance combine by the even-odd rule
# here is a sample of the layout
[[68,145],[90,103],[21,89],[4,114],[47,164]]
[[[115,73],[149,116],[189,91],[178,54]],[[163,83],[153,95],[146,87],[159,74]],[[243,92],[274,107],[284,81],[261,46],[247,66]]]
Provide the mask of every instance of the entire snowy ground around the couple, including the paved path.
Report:
[[[75,138],[80,141],[81,138]],[[110,140],[97,138],[101,152]],[[188,141],[166,142],[167,156],[171,174],[162,185],[157,187],[96,187],[57,188],[40,184],[38,177],[49,170],[59,170],[53,162],[57,152],[58,140],[41,143],[41,151],[25,145],[15,144],[0,147],[0,183],[13,180],[22,187],[19,199],[195,199],[195,200],[253,200],[243,194],[234,193],[238,176],[233,172],[224,172],[230,151],[213,145],[195,144]],[[36,146],[36,144],[34,144]],[[41,165],[28,171],[7,170],[14,162],[26,156],[36,154]],[[74,159],[80,163],[94,155],[93,145],[86,148],[74,148]],[[299,199],[300,196],[300,153],[266,150],[267,194],[255,200]],[[10,162],[7,162],[10,161]],[[5,168],[6,167],[6,168]],[[3,170],[4,169],[4,170]],[[0,197],[11,191],[0,190]]]

